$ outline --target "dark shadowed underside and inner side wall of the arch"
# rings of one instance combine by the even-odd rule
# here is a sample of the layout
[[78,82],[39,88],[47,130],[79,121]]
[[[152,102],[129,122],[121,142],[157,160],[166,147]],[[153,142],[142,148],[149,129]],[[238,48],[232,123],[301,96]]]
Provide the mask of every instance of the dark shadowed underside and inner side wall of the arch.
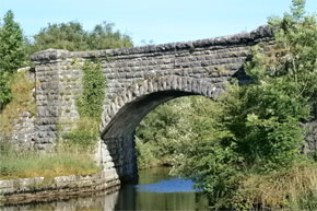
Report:
[[138,178],[136,129],[144,117],[166,102],[195,95],[198,94],[177,91],[156,92],[122,106],[102,137],[121,181]]

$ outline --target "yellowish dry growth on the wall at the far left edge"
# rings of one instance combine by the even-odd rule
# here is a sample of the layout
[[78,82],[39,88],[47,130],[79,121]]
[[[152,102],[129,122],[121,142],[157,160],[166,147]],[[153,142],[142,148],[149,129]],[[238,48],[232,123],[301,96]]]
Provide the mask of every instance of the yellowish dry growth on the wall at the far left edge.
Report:
[[10,136],[13,127],[19,121],[19,116],[23,113],[36,114],[36,104],[33,101],[32,90],[35,82],[27,78],[27,72],[17,72],[12,77],[11,91],[12,99],[5,105],[0,114],[0,133]]

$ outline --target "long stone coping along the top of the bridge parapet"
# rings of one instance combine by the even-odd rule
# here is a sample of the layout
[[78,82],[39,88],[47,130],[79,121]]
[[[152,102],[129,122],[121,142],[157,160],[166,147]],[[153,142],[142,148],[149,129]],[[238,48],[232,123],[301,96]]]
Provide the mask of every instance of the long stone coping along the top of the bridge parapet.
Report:
[[102,58],[107,56],[136,55],[164,52],[173,50],[195,49],[208,46],[234,45],[242,43],[257,43],[260,40],[270,40],[273,37],[273,31],[269,26],[260,26],[249,33],[240,33],[230,36],[221,36],[210,39],[199,39],[195,42],[171,43],[162,45],[149,45],[134,48],[90,50],[90,51],[68,51],[61,49],[47,49],[35,52],[31,59],[35,62],[49,61],[67,58]]

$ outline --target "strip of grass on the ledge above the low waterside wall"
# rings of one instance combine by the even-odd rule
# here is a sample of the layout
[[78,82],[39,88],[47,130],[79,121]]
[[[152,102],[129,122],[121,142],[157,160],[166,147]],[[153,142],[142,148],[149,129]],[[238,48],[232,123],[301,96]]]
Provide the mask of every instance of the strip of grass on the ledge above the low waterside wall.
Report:
[[[7,145],[7,146],[5,146]],[[89,153],[59,148],[54,153],[16,151],[8,144],[0,150],[0,179],[90,175],[99,172]]]

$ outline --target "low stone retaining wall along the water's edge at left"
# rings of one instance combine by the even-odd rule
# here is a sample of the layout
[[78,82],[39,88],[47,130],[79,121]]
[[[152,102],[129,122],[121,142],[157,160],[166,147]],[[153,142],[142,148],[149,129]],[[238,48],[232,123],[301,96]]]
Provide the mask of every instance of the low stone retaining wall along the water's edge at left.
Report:
[[115,191],[120,180],[115,172],[102,171],[93,175],[70,175],[51,178],[34,177],[0,180],[0,206],[54,201]]

